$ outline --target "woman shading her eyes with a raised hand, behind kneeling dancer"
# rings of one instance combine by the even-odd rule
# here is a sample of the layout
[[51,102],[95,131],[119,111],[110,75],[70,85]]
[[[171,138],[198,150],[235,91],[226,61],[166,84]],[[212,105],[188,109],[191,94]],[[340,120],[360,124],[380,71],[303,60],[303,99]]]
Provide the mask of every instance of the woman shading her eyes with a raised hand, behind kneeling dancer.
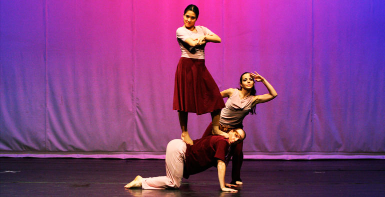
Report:
[[[254,80],[262,82],[268,93],[255,95]],[[219,122],[229,128],[243,128],[243,118],[248,114],[255,114],[255,105],[272,100],[277,96],[274,88],[258,73],[243,73],[239,79],[240,89],[229,88],[220,92],[222,97],[227,97],[226,106],[220,113]],[[219,131],[223,132],[223,131]],[[202,137],[209,135],[223,135],[212,132],[211,123],[208,125]],[[242,184],[240,179],[240,167],[243,161],[243,142],[236,145],[232,155],[231,184]]]

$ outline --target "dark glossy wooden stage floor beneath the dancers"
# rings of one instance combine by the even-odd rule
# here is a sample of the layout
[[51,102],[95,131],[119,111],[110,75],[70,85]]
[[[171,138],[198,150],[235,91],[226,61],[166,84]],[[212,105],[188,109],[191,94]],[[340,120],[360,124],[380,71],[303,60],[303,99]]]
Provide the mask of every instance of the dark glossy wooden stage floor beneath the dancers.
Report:
[[164,160],[0,157],[0,172],[0,196],[385,196],[385,160],[245,160],[237,193],[220,191],[213,167],[179,189],[123,187],[165,175]]

